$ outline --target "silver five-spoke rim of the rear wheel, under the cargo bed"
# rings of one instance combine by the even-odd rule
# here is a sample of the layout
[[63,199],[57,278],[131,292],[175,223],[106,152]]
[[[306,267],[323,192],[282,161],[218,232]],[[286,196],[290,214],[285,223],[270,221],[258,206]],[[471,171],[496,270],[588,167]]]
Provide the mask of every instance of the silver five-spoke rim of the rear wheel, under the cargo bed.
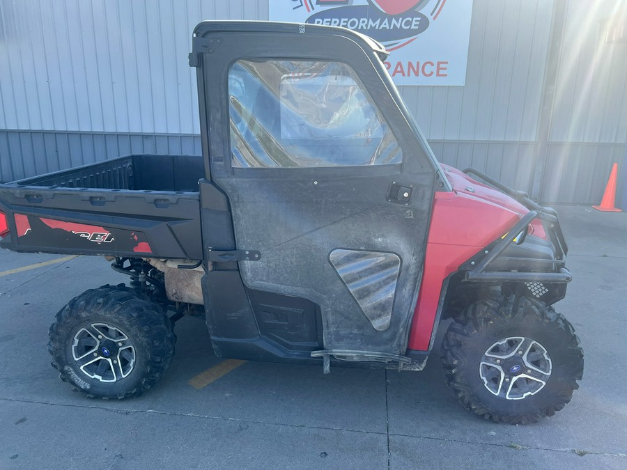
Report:
[[117,382],[135,366],[135,347],[119,328],[107,323],[88,324],[74,336],[72,357],[79,369],[100,382]]

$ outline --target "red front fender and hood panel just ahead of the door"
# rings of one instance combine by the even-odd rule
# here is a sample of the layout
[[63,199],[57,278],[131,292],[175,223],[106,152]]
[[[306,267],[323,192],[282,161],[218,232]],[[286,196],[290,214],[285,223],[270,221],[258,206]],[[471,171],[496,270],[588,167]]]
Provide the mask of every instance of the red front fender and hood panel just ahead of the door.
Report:
[[[529,210],[506,194],[448,166],[444,175],[453,192],[436,192],[418,303],[408,348],[426,351],[437,327],[442,283],[481,249],[505,235]],[[534,235],[544,237],[541,224]]]

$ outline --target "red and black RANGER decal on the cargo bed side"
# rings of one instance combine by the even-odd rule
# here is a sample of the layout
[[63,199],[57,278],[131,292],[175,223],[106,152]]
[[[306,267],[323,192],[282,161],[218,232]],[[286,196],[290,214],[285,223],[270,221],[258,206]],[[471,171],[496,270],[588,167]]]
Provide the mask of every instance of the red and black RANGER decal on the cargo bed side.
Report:
[[[62,220],[15,214],[17,237],[21,245],[88,249],[90,251],[132,251],[152,253],[142,232],[104,228]],[[106,249],[98,249],[107,246]]]

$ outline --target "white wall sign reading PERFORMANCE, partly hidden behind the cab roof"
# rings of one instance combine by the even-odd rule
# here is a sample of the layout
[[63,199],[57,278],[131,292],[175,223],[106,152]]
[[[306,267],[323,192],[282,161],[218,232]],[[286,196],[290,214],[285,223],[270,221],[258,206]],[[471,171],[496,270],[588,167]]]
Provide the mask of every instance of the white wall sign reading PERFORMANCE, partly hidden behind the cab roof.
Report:
[[270,20],[343,26],[388,50],[397,85],[463,86],[472,0],[270,0]]

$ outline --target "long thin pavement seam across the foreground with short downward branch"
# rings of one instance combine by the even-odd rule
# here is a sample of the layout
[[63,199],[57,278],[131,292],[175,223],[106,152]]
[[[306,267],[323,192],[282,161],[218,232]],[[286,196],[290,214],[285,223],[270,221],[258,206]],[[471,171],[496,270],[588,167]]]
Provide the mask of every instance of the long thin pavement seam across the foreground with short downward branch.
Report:
[[[511,448],[513,451],[525,450],[525,451],[548,451],[548,452],[557,452],[557,453],[574,453],[575,455],[579,455],[580,457],[585,457],[585,455],[601,455],[607,457],[627,457],[627,453],[607,453],[607,452],[596,452],[596,451],[585,451],[579,448],[550,448],[550,447],[539,447],[539,446],[526,446],[524,444],[512,444],[508,442],[498,443],[498,442],[486,442],[486,441],[468,441],[463,439],[451,439],[445,437],[431,437],[431,436],[418,436],[416,434],[403,434],[398,432],[389,432],[389,428],[386,432],[382,431],[369,431],[369,430],[357,430],[357,429],[349,429],[349,428],[334,428],[331,426],[319,426],[319,425],[305,425],[305,424],[293,424],[293,423],[274,423],[272,421],[263,421],[263,420],[254,420],[254,419],[243,419],[243,418],[226,418],[224,416],[211,416],[208,414],[196,414],[196,413],[180,413],[180,412],[161,412],[156,409],[123,409],[123,408],[114,408],[114,407],[99,407],[94,405],[72,405],[70,403],[54,403],[54,402],[44,402],[38,400],[18,400],[16,398],[0,398],[0,402],[15,402],[15,403],[30,403],[33,405],[50,405],[56,407],[70,407],[70,408],[82,408],[82,409],[98,409],[104,412],[118,413],[118,414],[156,414],[163,416],[177,416],[181,418],[200,418],[200,419],[212,419],[216,421],[230,421],[233,423],[251,423],[251,424],[262,424],[262,425],[272,425],[272,426],[285,426],[287,428],[308,428],[315,430],[327,430],[327,431],[341,431],[341,432],[357,432],[361,434],[375,434],[380,436],[387,436],[388,440],[388,455],[389,455],[389,437],[413,437],[415,439],[426,439],[431,441],[443,441],[443,442],[451,442],[456,444],[477,444],[477,445],[486,445],[493,447],[503,447],[503,448]],[[389,460],[389,457],[388,457]]]

